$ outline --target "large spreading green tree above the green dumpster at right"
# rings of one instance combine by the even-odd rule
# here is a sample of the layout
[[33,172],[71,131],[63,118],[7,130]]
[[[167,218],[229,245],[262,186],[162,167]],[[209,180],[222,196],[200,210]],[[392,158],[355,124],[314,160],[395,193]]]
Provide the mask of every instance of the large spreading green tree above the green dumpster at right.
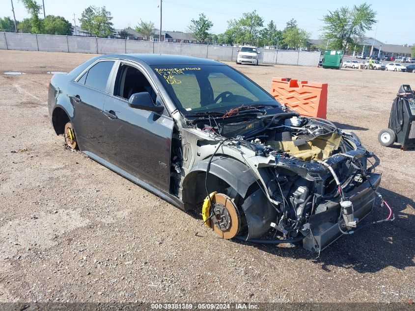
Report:
[[354,5],[352,9],[342,6],[324,15],[322,38],[330,41],[333,49],[344,50],[347,45],[359,44],[367,30],[376,23],[376,12],[371,4]]

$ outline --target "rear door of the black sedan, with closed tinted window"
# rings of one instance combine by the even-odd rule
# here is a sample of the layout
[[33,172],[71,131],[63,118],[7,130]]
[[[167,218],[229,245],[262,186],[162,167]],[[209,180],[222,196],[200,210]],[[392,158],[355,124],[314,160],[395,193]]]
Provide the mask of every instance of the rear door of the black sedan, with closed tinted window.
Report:
[[74,107],[73,124],[82,151],[103,156],[104,103],[111,82],[115,60],[102,60],[92,65],[71,87]]

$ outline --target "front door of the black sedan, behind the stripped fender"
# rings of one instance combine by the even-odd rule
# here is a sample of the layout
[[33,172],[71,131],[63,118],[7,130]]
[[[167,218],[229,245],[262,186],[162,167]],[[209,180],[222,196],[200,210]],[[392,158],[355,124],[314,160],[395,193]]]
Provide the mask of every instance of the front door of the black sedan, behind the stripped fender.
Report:
[[156,113],[128,105],[132,94],[145,91],[161,104],[155,85],[138,65],[120,62],[113,85],[104,105],[106,156],[134,177],[168,193],[173,119],[166,109]]

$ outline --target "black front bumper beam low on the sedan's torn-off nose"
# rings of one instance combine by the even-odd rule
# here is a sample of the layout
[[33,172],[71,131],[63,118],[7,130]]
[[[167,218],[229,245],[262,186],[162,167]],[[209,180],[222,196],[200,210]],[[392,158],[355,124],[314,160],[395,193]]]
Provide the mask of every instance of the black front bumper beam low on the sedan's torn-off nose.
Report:
[[[371,173],[368,175],[368,178],[375,188],[379,187],[381,182],[380,174]],[[367,181],[347,193],[347,196],[353,202],[354,215],[359,219],[359,222],[372,211],[376,195]],[[319,209],[325,211],[310,216],[307,224],[310,232],[303,239],[303,247],[308,251],[317,253],[343,235],[337,223],[340,215],[339,201],[325,201],[319,204],[317,210]],[[343,223],[344,221],[341,219],[340,225]]]

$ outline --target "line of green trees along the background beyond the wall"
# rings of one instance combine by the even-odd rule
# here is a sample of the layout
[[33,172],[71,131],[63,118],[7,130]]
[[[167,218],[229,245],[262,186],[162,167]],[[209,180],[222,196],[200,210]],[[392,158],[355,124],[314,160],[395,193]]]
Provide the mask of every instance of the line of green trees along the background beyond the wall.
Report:
[[[48,15],[44,19],[39,18],[42,5],[36,0],[20,0],[26,7],[30,17],[23,21],[16,21],[17,29],[9,17],[0,18],[0,28],[5,30],[17,30],[28,33],[63,34],[72,35],[72,24],[61,16]],[[324,42],[330,42],[330,48],[344,50],[352,48],[358,50],[361,47],[362,38],[367,30],[377,22],[376,12],[371,4],[362,3],[352,8],[343,6],[335,11],[328,11],[323,16],[323,34],[320,37]],[[108,36],[113,34],[111,12],[103,7],[88,6],[83,10],[79,19],[80,27],[94,36]],[[310,33],[298,27],[297,21],[291,19],[285,28],[278,30],[275,22],[271,20],[264,27],[264,19],[254,10],[244,13],[240,19],[227,21],[225,32],[218,35],[210,33],[213,23],[205,14],[199,14],[192,19],[188,31],[199,43],[217,44],[249,44],[256,46],[275,46],[277,48],[301,49],[307,46]],[[135,30],[142,34],[144,40],[158,37],[154,33],[152,21],[138,23]],[[119,31],[121,37],[128,36],[126,29]],[[325,48],[321,46],[321,48]]]

